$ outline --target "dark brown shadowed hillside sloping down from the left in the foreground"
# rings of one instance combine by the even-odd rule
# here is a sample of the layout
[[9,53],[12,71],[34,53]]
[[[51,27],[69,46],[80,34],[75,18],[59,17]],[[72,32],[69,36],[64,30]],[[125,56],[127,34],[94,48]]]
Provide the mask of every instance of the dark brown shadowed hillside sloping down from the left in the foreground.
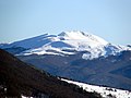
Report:
[[0,49],[0,97],[100,98],[40,72]]

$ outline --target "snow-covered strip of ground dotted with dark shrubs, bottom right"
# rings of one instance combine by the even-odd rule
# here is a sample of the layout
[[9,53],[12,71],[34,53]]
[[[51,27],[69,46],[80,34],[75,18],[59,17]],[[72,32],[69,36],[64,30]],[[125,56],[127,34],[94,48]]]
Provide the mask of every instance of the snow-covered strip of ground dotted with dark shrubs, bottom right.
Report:
[[84,83],[73,82],[64,78],[60,78],[61,81],[68,82],[70,84],[75,84],[86,91],[96,91],[100,94],[104,98],[131,98],[131,91],[129,90],[122,90],[122,89],[116,89],[111,87],[103,87],[103,86],[95,86],[95,85],[88,85]]

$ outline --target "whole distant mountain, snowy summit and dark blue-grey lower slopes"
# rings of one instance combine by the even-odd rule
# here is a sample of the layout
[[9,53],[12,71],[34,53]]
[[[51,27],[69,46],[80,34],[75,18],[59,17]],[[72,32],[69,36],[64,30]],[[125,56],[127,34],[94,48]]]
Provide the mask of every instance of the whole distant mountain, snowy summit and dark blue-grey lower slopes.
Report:
[[40,35],[0,48],[50,74],[131,90],[131,47],[72,30]]

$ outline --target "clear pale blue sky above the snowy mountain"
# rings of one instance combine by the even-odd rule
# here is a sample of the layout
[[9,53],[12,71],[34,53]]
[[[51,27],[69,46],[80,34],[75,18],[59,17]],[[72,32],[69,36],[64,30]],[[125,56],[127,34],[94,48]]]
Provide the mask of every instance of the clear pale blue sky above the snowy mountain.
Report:
[[63,30],[131,44],[131,0],[0,0],[0,42]]

